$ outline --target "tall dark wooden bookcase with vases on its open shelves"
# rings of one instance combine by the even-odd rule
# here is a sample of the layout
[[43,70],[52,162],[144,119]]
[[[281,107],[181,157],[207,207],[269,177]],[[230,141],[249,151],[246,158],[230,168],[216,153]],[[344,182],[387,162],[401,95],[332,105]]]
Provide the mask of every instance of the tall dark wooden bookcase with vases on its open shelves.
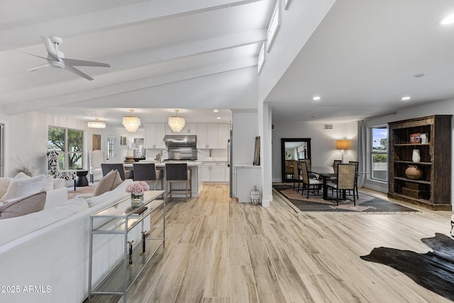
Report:
[[388,196],[451,210],[451,115],[390,122]]

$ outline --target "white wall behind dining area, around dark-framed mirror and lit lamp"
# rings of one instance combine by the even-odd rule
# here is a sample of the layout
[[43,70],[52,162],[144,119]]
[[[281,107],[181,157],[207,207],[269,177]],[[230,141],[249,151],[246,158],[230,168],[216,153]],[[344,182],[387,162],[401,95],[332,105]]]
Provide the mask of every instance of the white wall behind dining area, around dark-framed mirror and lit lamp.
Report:
[[287,122],[275,123],[272,131],[272,180],[282,181],[281,138],[311,138],[312,166],[330,166],[333,160],[341,159],[341,150],[336,150],[336,140],[348,138],[351,146],[345,150],[344,161],[356,160],[358,149],[358,126],[356,122],[331,123],[332,130],[325,130],[328,123]]

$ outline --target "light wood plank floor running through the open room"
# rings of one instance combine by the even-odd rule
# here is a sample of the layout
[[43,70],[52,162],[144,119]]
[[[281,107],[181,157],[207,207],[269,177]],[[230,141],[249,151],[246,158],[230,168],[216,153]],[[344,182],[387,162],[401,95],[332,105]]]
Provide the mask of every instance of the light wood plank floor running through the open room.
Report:
[[128,302],[451,302],[360,259],[379,246],[426,253],[420,239],[449,235],[450,215],[296,214],[278,198],[238,204],[228,185],[206,185],[198,199],[167,203],[165,248]]

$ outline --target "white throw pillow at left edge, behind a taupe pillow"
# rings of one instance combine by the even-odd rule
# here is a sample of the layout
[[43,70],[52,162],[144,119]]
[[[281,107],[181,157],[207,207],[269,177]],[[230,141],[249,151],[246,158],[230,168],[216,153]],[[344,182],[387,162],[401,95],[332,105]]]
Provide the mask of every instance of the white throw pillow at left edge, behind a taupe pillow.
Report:
[[1,197],[1,200],[5,201],[18,197],[26,197],[42,191],[44,187],[45,175],[39,175],[33,178],[28,177],[28,179],[22,178],[22,176],[19,177],[19,175],[17,175],[13,178],[13,180],[11,180],[8,190],[6,191],[6,194]]

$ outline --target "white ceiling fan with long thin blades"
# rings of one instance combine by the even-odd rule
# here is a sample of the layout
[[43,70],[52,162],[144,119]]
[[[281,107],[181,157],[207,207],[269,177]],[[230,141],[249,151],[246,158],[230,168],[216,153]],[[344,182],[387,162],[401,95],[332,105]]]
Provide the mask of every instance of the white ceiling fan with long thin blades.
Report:
[[81,70],[78,70],[74,66],[94,66],[94,67],[111,67],[107,63],[101,63],[101,62],[94,62],[94,61],[86,61],[86,60],[77,60],[77,59],[70,59],[65,57],[65,54],[62,53],[61,50],[58,49],[58,45],[62,44],[62,38],[56,36],[56,35],[51,35],[50,37],[45,37],[41,36],[41,39],[43,40],[45,49],[48,51],[48,57],[41,57],[38,55],[33,55],[31,53],[26,53],[21,50],[16,50],[20,53],[25,53],[27,55],[32,55],[44,60],[48,60],[48,63],[45,65],[39,65],[37,67],[32,67],[31,69],[27,70],[28,72],[34,72],[35,70],[40,69],[41,67],[54,67],[54,68],[60,68],[67,70],[68,72],[72,72],[80,77],[83,77],[87,80],[92,80],[93,78],[90,77],[89,75],[85,74]]

